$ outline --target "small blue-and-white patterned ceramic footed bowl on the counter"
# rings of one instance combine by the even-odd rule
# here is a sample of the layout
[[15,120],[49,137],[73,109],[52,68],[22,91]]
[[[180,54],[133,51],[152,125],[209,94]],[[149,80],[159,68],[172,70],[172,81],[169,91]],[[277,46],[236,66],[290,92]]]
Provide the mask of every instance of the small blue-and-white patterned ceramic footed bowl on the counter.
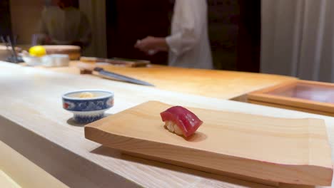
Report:
[[[81,93],[91,93],[91,98],[80,98]],[[113,107],[113,93],[105,90],[78,90],[63,95],[63,108],[74,113],[74,120],[88,123],[101,119]]]

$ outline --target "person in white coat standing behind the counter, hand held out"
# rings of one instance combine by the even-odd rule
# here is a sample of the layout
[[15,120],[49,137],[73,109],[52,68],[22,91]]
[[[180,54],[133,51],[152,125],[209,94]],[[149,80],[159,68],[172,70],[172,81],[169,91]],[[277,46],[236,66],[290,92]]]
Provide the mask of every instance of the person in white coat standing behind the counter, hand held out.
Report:
[[213,68],[208,40],[206,0],[176,0],[171,35],[147,36],[135,47],[149,55],[168,51],[168,65],[185,68]]

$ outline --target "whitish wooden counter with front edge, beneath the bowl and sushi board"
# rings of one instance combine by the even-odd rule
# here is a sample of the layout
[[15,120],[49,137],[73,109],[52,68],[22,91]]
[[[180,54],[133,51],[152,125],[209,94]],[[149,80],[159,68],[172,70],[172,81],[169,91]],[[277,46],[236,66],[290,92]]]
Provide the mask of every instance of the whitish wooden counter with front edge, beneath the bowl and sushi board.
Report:
[[268,187],[121,155],[117,150],[86,140],[82,125],[76,125],[71,120],[71,113],[62,109],[61,95],[71,90],[114,91],[115,106],[107,111],[108,114],[148,100],[159,100],[171,105],[275,117],[318,117],[325,120],[330,145],[334,146],[333,117],[174,93],[11,63],[0,63],[0,70],[0,140],[69,187]]

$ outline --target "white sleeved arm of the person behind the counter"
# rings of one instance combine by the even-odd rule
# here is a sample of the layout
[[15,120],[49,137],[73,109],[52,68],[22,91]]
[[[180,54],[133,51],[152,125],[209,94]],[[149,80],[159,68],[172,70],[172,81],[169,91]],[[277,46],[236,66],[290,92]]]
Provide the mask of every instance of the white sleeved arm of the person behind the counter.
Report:
[[180,56],[191,50],[200,41],[203,27],[206,27],[206,0],[176,0],[173,23],[176,33],[166,37],[169,51]]

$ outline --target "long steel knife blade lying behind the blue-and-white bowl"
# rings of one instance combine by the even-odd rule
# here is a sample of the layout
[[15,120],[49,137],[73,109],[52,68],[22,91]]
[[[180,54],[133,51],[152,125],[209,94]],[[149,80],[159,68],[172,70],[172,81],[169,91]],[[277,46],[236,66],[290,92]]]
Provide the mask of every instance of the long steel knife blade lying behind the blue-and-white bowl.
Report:
[[136,83],[138,85],[154,86],[153,84],[147,83],[147,82],[142,81],[142,80],[137,80],[135,78],[131,78],[131,77],[128,77],[128,76],[125,76],[125,75],[120,75],[120,74],[117,74],[117,73],[104,71],[104,69],[100,68],[100,67],[94,68],[93,71],[98,72],[98,74],[103,75],[106,78],[117,79],[117,80],[121,80],[121,81],[128,82],[128,83]]

